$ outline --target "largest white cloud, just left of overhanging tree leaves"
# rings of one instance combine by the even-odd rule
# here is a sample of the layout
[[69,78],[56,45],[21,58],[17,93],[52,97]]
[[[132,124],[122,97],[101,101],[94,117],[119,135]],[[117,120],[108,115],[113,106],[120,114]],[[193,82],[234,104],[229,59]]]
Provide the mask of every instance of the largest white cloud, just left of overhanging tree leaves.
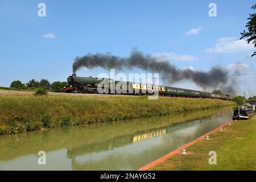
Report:
[[220,38],[214,47],[205,49],[207,52],[215,53],[232,53],[243,52],[246,50],[254,49],[253,44],[247,44],[245,40],[237,40],[236,38]]

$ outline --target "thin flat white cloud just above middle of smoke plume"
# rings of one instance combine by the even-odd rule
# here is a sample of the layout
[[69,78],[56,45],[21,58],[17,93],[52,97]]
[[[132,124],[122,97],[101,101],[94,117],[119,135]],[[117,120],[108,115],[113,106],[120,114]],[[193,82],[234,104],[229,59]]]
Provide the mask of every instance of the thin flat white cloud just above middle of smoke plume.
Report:
[[157,52],[153,55],[160,61],[195,61],[197,57],[192,55],[178,55],[175,52]]

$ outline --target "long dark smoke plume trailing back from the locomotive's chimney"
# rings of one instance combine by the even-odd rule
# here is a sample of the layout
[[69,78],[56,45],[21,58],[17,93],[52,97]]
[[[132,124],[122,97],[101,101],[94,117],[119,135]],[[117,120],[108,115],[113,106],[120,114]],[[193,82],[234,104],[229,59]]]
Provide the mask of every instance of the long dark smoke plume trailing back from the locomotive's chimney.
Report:
[[81,67],[101,67],[105,69],[141,68],[144,71],[159,73],[163,80],[169,83],[191,80],[203,88],[216,88],[228,82],[228,71],[222,68],[213,67],[209,72],[178,69],[175,65],[171,65],[168,62],[159,62],[155,57],[143,55],[137,49],[134,49],[129,57],[118,57],[101,53],[94,55],[89,53],[83,57],[76,57],[73,63],[73,73],[76,73]]

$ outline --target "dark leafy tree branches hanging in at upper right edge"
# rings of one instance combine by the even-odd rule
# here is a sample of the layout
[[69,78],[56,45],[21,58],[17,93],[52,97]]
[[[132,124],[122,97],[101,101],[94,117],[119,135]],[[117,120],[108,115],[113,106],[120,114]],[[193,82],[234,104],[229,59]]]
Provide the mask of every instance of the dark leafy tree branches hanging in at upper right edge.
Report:
[[[251,7],[251,9],[255,10],[256,9],[256,4]],[[249,44],[250,42],[252,42],[254,44],[254,47],[256,47],[256,14],[250,14],[249,18],[247,18],[247,20],[249,20],[248,23],[246,23],[246,28],[248,29],[247,31],[243,30],[243,32],[241,32],[241,39],[243,38],[247,38],[246,41]],[[255,56],[256,52],[253,53],[253,55],[251,55],[251,57]]]

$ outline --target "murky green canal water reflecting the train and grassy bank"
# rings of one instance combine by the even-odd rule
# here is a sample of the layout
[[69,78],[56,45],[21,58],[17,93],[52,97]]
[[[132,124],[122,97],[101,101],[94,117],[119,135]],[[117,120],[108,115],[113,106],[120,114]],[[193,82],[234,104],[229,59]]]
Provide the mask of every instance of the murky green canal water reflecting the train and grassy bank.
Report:
[[[230,121],[233,109],[0,136],[0,170],[136,170]],[[38,152],[46,152],[46,165]]]

